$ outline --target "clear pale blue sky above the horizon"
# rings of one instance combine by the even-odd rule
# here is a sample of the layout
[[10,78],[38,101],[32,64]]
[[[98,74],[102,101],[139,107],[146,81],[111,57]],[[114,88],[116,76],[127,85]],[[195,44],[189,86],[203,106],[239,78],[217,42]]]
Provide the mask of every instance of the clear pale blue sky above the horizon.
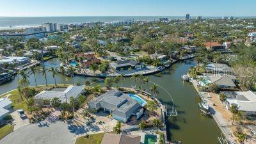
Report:
[[255,16],[255,6],[255,0],[0,0],[0,16]]

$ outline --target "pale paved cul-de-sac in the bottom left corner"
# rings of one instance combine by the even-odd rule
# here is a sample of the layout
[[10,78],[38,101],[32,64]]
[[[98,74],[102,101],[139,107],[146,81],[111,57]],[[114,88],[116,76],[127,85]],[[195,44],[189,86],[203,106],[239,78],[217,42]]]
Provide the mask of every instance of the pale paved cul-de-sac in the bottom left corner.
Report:
[[72,127],[67,122],[41,122],[12,132],[0,144],[72,144],[80,132],[84,131],[77,131],[77,127]]

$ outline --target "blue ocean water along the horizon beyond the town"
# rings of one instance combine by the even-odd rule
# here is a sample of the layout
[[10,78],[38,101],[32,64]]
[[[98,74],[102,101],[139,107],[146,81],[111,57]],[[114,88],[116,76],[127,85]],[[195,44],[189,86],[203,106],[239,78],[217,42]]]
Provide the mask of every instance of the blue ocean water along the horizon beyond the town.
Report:
[[[77,24],[81,22],[118,22],[121,20],[158,20],[167,17],[169,19],[185,19],[182,16],[84,16],[84,17],[0,17],[0,29],[22,29],[33,26],[41,26],[45,22],[58,24]],[[203,17],[216,19],[221,17]],[[241,17],[252,18],[252,17]],[[195,17],[191,17],[195,19]]]

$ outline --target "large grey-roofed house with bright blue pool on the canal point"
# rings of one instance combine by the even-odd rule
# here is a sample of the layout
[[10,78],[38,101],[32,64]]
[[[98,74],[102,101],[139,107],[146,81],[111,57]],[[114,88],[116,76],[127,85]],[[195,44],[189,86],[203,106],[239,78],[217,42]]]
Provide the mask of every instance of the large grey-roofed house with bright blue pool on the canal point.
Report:
[[125,94],[118,90],[110,90],[88,102],[88,108],[95,111],[103,110],[121,122],[127,122],[131,116],[138,120],[144,113],[143,106],[147,102],[138,95]]

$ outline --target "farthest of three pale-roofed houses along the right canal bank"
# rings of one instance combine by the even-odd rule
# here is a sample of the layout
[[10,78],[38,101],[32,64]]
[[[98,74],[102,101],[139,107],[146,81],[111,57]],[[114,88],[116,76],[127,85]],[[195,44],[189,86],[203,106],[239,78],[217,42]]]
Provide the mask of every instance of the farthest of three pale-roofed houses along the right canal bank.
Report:
[[209,63],[206,67],[207,72],[214,74],[231,74],[232,69],[223,63]]

